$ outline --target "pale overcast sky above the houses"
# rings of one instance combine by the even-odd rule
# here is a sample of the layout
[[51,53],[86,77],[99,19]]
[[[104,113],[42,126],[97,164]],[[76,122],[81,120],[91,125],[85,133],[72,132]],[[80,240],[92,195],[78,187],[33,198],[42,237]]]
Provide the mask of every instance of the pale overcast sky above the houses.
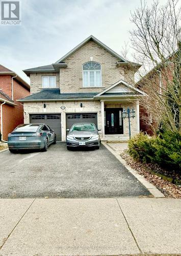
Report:
[[133,28],[130,12],[139,5],[140,0],[21,0],[22,25],[0,25],[0,63],[29,81],[23,69],[57,61],[91,34],[121,54]]

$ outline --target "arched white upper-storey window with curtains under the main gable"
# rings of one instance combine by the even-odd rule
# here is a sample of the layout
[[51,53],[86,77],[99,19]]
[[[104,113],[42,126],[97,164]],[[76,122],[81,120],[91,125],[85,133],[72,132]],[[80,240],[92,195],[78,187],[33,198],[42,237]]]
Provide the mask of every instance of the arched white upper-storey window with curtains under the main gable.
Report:
[[101,87],[101,66],[96,62],[83,65],[83,87]]

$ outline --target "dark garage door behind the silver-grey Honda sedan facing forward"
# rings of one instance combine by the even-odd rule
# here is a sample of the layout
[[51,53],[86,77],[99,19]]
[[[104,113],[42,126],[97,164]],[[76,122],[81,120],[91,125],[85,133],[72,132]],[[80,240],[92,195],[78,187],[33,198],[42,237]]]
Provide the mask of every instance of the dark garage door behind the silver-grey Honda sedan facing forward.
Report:
[[74,123],[95,123],[97,127],[97,113],[73,113],[66,115],[66,129]]

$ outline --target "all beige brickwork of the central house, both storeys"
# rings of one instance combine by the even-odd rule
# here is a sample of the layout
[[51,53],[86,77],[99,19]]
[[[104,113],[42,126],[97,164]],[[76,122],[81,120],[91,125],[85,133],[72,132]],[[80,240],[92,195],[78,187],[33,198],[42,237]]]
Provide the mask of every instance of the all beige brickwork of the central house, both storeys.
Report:
[[[82,66],[88,61],[95,61],[101,65],[101,88],[83,87]],[[131,69],[129,71],[127,68],[125,69],[125,67],[116,66],[118,61],[120,61],[120,59],[105,50],[105,48],[101,47],[95,41],[89,40],[81,48],[64,59],[67,67],[60,68],[60,72],[31,73],[31,94],[42,90],[42,76],[56,76],[56,88],[60,88],[61,93],[99,93],[120,79],[133,84],[134,71]],[[118,90],[118,88],[116,90]],[[43,103],[46,103],[46,108],[43,108]],[[80,103],[83,103],[82,108]],[[100,100],[39,101],[24,102],[23,104],[25,123],[30,122],[31,114],[60,113],[62,141],[66,140],[66,113],[97,113],[98,129],[101,129],[100,136],[102,137],[103,135],[104,137],[104,108]],[[123,100],[111,103],[111,101],[107,100],[104,104],[105,108],[127,108],[127,106],[133,106],[136,111],[136,117],[131,119],[131,133],[135,135],[139,132],[138,102]],[[62,110],[61,106],[65,106],[65,110]],[[120,135],[120,137],[128,139],[128,119],[123,120],[123,134]]]

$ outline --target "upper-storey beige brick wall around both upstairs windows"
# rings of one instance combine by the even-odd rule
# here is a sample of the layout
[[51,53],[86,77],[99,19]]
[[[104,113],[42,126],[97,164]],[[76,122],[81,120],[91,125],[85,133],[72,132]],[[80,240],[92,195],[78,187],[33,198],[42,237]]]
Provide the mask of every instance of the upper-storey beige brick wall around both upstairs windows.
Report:
[[[61,93],[101,92],[120,79],[130,83],[133,83],[134,80],[134,72],[132,70],[130,70],[130,73],[128,70],[124,72],[122,67],[117,67],[116,62],[119,59],[92,40],[76,50],[64,61],[67,63],[67,68],[61,68],[60,73],[31,73],[31,94],[37,93],[42,89],[42,76],[56,76],[56,87],[60,88]],[[83,87],[82,66],[88,61],[95,61],[101,65],[101,88]]]

